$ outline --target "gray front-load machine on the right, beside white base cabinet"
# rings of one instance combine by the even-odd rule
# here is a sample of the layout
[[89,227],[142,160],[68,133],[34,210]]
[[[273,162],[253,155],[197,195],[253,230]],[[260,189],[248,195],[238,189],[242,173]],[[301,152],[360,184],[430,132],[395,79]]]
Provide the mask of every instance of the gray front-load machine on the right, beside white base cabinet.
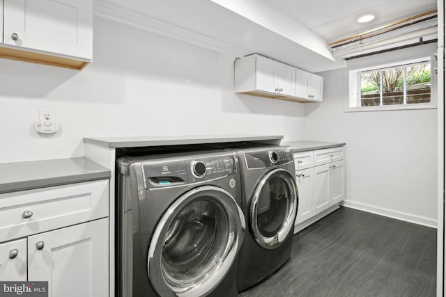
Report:
[[238,290],[243,291],[290,259],[298,190],[291,147],[240,147],[237,151],[242,209],[249,230],[238,266]]

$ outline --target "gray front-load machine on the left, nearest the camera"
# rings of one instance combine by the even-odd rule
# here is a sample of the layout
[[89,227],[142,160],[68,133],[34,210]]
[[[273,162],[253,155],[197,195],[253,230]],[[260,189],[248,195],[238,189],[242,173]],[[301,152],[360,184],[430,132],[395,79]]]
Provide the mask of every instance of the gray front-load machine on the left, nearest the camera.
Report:
[[118,159],[119,296],[236,296],[245,218],[234,152]]

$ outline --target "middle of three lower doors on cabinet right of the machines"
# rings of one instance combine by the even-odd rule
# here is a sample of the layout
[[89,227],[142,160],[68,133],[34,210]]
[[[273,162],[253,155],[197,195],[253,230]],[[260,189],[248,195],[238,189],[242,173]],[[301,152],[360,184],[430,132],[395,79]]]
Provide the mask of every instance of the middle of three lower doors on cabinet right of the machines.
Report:
[[330,207],[330,164],[313,168],[314,213],[316,215]]

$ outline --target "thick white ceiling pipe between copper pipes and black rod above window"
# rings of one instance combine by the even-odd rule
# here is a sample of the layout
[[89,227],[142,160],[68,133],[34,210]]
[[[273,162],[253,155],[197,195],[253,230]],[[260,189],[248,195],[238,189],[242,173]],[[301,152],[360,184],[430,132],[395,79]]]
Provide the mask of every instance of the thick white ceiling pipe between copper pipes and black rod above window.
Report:
[[432,35],[437,33],[437,26],[430,26],[424,29],[408,32],[401,34],[399,36],[394,36],[392,38],[386,38],[383,40],[376,40],[372,42],[364,43],[363,45],[357,45],[355,47],[349,47],[348,49],[339,49],[338,51],[333,51],[334,57],[348,56],[349,54],[357,54],[360,51],[365,51],[367,49],[374,49],[376,47],[383,47],[385,45],[392,45],[397,42],[402,42],[406,40],[411,40],[414,38],[420,38],[426,35]]

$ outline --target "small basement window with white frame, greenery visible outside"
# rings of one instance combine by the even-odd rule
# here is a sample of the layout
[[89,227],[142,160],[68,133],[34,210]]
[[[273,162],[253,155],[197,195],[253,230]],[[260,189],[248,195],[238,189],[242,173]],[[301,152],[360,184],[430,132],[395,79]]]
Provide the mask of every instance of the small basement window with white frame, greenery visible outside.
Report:
[[430,57],[351,70],[345,111],[435,109],[434,73]]

